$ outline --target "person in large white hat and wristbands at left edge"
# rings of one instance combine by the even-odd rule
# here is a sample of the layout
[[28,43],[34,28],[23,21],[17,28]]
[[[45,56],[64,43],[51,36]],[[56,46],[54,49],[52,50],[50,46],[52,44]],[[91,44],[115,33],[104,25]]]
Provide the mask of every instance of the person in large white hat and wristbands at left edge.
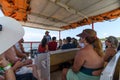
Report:
[[[36,80],[32,74],[15,75],[15,71],[22,66],[21,61],[11,64],[6,55],[12,51],[13,46],[23,37],[24,29],[21,24],[10,17],[0,18],[0,80]],[[9,59],[8,59],[9,60]],[[31,78],[31,79],[30,79]]]

